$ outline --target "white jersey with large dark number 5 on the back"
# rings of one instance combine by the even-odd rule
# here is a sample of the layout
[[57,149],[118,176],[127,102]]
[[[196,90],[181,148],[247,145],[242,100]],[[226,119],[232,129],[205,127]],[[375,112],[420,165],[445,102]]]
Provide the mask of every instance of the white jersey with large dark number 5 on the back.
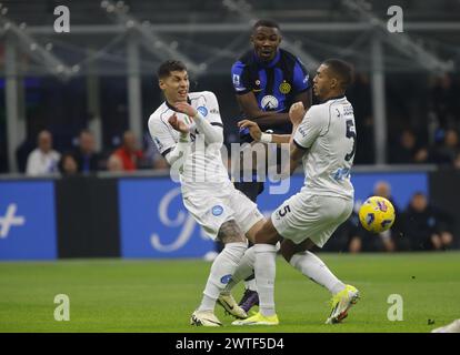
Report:
[[294,143],[308,150],[302,191],[317,195],[353,197],[350,181],[357,132],[353,106],[344,95],[312,105],[294,132]]

